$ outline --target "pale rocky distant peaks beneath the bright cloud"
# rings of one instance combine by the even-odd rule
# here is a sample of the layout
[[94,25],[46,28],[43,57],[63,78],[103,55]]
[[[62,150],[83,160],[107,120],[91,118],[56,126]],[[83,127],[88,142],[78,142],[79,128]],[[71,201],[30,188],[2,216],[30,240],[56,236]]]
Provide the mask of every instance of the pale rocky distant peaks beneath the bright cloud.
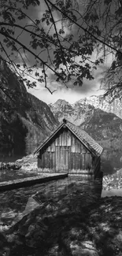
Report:
[[109,96],[103,99],[102,95],[94,95],[81,98],[74,104],[61,99],[58,99],[54,104],[50,104],[50,109],[58,121],[61,121],[65,116],[68,121],[75,122],[76,125],[82,124],[87,116],[91,116],[94,108],[102,109],[107,113],[114,113],[117,117],[122,118],[122,100],[120,98],[115,98],[112,102],[112,98]]

